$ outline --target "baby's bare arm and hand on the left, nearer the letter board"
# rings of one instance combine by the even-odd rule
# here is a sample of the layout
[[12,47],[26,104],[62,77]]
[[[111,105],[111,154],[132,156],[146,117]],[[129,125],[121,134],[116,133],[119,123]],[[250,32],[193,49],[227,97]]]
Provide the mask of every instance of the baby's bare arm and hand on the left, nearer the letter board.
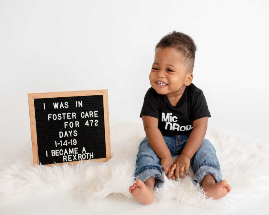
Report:
[[168,179],[171,178],[171,176],[173,179],[175,179],[174,171],[170,174],[170,168],[173,165],[174,160],[169,148],[163,139],[163,135],[158,128],[159,120],[152,116],[142,116],[142,120],[149,145],[161,159],[161,165],[163,167],[164,173],[168,173]]

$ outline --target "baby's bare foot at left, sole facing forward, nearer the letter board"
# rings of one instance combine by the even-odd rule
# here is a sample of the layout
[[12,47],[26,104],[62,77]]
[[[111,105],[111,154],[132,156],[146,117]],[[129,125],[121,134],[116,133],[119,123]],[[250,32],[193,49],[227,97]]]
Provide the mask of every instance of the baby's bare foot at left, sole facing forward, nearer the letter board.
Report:
[[129,187],[129,192],[144,205],[149,205],[153,202],[153,189],[151,190],[147,187],[140,179],[137,179],[136,183]]

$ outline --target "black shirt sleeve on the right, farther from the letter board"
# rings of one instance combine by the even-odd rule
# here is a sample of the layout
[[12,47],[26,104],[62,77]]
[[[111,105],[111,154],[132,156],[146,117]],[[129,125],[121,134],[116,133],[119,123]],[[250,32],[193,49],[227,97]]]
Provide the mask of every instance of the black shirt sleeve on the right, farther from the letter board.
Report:
[[207,101],[202,90],[195,92],[191,113],[192,120],[200,119],[206,116],[211,117],[207,107]]

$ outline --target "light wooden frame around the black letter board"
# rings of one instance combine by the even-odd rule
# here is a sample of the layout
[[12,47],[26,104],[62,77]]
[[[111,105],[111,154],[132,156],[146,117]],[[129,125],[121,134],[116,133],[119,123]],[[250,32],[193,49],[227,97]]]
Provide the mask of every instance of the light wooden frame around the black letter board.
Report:
[[[104,89],[104,90],[81,90],[81,91],[51,92],[51,93],[28,93],[30,128],[31,128],[32,150],[33,150],[33,164],[34,165],[39,164],[34,99],[57,98],[57,97],[73,97],[73,96],[94,96],[94,95],[103,95],[106,158],[92,159],[90,161],[104,162],[104,161],[108,161],[111,158],[109,114],[108,114],[108,91],[107,91],[107,89]],[[83,162],[85,162],[85,161],[89,161],[89,160],[83,160]],[[75,165],[75,164],[77,164],[77,162],[81,162],[81,160],[72,161],[72,162],[63,162],[63,163],[57,163],[57,164],[62,165],[64,163],[67,163],[69,165]],[[46,164],[45,166],[51,166],[51,165],[54,165],[54,164]]]

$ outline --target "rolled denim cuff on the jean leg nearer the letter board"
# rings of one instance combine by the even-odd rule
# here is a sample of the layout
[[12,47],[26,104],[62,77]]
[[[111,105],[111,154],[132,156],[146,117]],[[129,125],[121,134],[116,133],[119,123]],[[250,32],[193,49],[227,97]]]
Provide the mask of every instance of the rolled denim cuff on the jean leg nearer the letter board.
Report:
[[164,177],[163,173],[161,173],[158,168],[145,167],[141,169],[138,173],[135,172],[135,181],[137,181],[137,179],[140,179],[142,182],[145,182],[151,176],[155,178],[153,191],[155,191],[156,188],[161,189],[164,183]]

